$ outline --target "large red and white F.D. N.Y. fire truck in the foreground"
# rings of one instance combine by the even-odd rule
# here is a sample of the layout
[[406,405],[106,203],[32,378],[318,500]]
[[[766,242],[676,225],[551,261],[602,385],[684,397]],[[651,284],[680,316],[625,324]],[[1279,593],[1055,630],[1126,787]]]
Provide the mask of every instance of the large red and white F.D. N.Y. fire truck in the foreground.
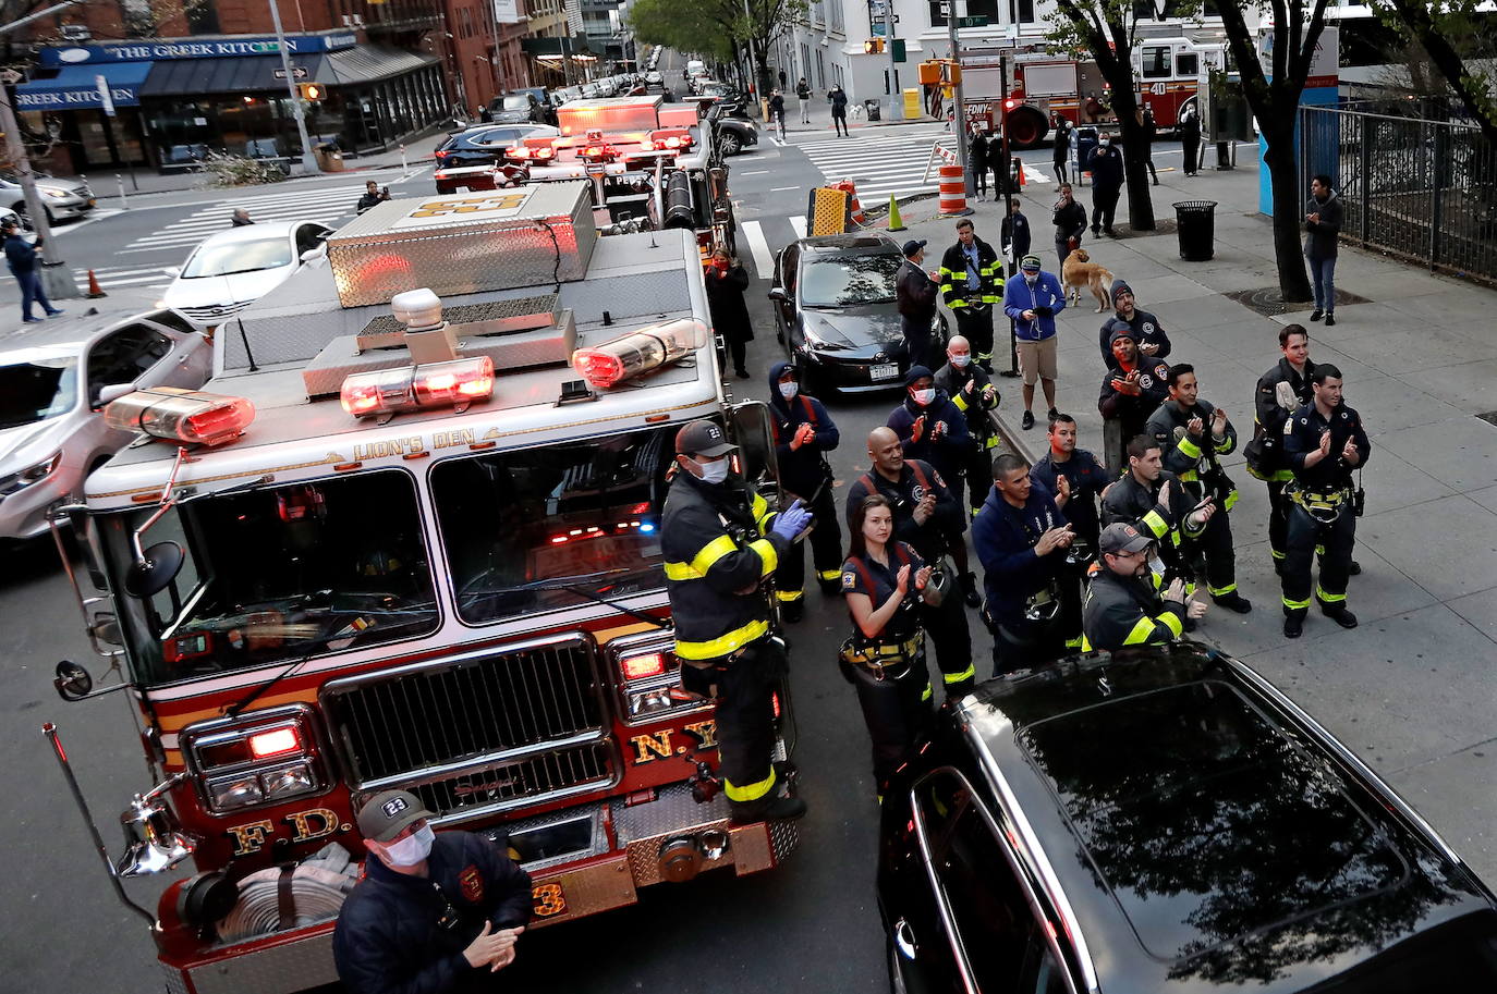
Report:
[[[725,394],[711,338],[692,232],[599,238],[588,183],[545,183],[382,204],[217,329],[202,391],[106,388],[136,443],[54,534],[124,677],[63,662],[57,689],[139,714],[157,783],[121,858],[46,732],[168,991],[332,982],[385,789],[507,847],[533,927],[793,850],[790,823],[729,822],[672,654],[677,430],[717,421],[774,488],[768,412]],[[187,859],[154,912],[121,883]]]

